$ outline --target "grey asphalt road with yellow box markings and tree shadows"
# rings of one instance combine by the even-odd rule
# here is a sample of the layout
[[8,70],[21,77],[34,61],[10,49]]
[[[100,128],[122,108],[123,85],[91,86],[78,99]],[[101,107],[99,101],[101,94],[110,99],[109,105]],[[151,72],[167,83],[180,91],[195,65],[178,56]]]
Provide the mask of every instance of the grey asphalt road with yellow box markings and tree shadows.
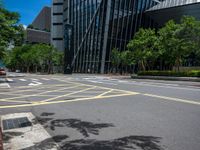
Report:
[[200,149],[197,82],[79,74],[1,80],[0,115],[20,112],[31,112],[63,150]]

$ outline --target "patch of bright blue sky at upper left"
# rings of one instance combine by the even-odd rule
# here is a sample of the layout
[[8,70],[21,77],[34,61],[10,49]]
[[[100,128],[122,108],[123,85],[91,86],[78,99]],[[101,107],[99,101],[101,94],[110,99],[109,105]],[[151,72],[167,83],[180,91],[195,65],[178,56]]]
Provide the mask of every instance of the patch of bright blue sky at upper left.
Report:
[[51,0],[3,0],[3,5],[10,11],[18,12],[20,24],[31,24],[44,6],[50,6]]

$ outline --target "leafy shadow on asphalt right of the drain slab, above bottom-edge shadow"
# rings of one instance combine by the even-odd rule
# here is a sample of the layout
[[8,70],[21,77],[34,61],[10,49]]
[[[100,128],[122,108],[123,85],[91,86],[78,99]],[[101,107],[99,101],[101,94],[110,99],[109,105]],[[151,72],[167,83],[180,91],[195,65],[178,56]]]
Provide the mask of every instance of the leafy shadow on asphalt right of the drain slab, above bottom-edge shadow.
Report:
[[114,125],[108,123],[86,122],[79,119],[56,119],[50,123],[51,130],[55,130],[55,127],[73,128],[79,131],[84,137],[89,137],[89,134],[99,135],[100,129],[114,127]]

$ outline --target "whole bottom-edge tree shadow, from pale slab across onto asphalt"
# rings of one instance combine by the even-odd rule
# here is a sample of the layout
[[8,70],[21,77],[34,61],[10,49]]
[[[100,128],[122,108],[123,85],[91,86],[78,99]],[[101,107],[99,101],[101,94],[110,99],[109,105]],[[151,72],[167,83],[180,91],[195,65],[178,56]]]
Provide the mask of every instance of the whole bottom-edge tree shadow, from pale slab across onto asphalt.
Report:
[[164,150],[160,145],[161,138],[153,136],[127,136],[107,141],[94,139],[66,141],[67,138],[65,135],[54,136],[23,150],[47,150],[55,147],[61,150]]

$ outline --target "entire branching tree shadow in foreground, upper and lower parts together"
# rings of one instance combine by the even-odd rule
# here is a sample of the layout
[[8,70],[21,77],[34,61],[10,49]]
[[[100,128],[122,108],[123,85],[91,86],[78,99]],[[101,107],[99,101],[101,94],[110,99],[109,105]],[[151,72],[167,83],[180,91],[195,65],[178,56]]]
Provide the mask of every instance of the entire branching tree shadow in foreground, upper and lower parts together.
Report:
[[53,119],[46,116],[52,116],[54,113],[42,113],[39,122],[46,128],[55,130],[56,127],[68,127],[76,129],[83,135],[83,139],[69,140],[67,135],[58,135],[46,139],[41,143],[36,143],[33,147],[25,150],[50,149],[59,145],[61,150],[164,150],[161,146],[160,137],[131,135],[111,140],[88,139],[90,134],[99,135],[103,128],[114,127],[109,123],[93,123],[82,121],[80,119]]

